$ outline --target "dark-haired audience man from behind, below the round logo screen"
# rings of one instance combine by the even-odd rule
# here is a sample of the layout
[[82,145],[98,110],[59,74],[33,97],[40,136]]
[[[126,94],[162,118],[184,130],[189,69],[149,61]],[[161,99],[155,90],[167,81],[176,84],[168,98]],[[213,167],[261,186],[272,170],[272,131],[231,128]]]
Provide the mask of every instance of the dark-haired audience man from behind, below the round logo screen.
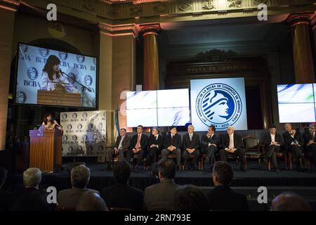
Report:
[[216,162],[213,167],[213,183],[215,188],[207,193],[210,210],[248,211],[245,195],[230,189],[234,176],[232,167],[227,162]]

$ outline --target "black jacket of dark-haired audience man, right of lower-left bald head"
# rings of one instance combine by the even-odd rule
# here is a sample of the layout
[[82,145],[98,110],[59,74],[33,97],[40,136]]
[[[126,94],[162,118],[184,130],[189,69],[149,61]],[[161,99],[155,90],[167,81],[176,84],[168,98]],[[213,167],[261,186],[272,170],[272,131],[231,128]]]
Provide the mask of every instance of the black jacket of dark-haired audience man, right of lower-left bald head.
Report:
[[119,207],[131,210],[143,210],[144,194],[138,188],[124,184],[117,184],[101,191],[101,197],[107,203],[107,207]]

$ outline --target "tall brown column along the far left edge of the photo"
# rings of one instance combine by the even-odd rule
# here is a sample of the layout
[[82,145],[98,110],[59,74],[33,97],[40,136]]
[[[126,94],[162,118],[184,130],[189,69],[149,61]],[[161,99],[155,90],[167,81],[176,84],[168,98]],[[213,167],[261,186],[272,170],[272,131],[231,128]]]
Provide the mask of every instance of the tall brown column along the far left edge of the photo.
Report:
[[0,150],[6,148],[6,122],[8,114],[8,89],[12,59],[15,11],[19,1],[0,0]]

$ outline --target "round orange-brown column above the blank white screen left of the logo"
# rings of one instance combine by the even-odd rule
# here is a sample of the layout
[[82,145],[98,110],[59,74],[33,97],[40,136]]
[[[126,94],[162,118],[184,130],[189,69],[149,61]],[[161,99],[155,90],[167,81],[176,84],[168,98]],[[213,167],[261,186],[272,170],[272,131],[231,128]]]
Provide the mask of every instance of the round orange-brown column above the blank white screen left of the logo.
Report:
[[160,32],[159,23],[140,25],[144,39],[144,90],[159,89],[159,60],[157,34]]

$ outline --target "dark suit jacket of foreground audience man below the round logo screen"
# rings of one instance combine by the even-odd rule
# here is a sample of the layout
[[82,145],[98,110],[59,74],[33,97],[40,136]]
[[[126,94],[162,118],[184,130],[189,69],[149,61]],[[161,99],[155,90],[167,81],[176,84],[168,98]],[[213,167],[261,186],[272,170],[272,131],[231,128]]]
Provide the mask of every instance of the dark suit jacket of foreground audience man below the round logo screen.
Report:
[[246,196],[232,191],[229,186],[216,186],[213,191],[206,195],[210,210],[249,210]]

